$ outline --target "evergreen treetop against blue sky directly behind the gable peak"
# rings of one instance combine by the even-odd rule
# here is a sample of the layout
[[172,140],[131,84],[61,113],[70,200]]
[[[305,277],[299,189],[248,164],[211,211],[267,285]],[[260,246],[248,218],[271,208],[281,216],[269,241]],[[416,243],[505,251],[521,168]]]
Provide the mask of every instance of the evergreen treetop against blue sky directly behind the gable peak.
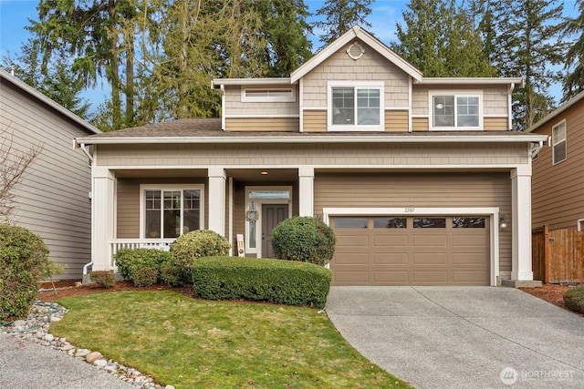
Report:
[[343,35],[352,26],[370,27],[366,20],[371,13],[372,0],[327,0],[325,5],[317,10],[318,16],[325,16],[325,21],[318,21],[314,26],[322,29],[320,42],[328,45]]

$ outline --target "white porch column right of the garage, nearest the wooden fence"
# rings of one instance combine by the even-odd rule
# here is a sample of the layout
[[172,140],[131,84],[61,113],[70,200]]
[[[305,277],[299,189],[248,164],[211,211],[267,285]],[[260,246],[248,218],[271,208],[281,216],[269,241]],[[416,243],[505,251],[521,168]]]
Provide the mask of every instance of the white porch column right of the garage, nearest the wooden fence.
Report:
[[533,280],[531,266],[531,167],[511,171],[513,253],[511,280]]

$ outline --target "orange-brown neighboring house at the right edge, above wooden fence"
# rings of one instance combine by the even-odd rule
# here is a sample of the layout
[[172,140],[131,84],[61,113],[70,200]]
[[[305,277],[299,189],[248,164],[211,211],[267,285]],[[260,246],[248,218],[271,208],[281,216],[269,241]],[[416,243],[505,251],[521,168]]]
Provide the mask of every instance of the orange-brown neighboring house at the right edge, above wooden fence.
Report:
[[527,132],[549,138],[533,161],[533,229],[584,230],[584,92]]

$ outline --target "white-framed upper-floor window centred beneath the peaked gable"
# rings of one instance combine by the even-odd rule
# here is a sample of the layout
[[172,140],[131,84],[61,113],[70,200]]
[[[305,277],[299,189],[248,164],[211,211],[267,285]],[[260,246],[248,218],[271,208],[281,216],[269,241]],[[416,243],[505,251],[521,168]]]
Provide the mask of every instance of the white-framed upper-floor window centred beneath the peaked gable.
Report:
[[329,130],[383,130],[382,83],[329,83],[328,87]]

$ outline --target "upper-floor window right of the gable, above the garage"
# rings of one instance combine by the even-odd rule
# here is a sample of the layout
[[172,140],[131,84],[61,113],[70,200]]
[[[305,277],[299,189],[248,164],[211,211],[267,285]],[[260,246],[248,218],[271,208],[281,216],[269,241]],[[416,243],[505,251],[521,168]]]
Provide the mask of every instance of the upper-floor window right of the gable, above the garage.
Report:
[[478,95],[432,95],[432,129],[481,128],[481,98]]

